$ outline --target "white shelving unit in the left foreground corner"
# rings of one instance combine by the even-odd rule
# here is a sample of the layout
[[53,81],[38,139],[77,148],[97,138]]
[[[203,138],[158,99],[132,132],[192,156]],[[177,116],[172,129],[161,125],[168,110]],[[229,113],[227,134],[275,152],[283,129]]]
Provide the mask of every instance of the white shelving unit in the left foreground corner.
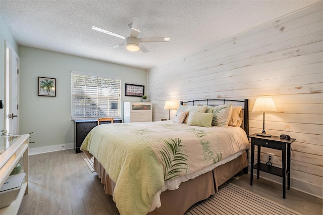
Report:
[[6,182],[21,157],[23,171],[26,173],[17,198],[9,206],[1,208],[0,214],[17,214],[24,194],[28,193],[28,137],[29,134],[0,137],[0,187]]

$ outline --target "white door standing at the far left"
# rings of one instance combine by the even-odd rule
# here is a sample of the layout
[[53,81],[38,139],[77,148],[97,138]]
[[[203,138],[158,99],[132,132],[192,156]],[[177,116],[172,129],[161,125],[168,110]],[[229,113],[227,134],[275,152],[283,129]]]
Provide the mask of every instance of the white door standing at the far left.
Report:
[[19,56],[7,41],[5,95],[5,130],[19,134]]

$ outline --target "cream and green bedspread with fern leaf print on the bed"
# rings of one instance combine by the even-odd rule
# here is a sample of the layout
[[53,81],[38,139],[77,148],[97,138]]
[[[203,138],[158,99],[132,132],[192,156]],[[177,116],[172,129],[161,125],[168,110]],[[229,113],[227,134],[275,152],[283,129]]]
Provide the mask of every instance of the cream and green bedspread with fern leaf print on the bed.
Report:
[[116,183],[113,200],[121,214],[146,214],[164,181],[194,173],[248,147],[241,128],[161,121],[96,126],[81,150],[94,155]]

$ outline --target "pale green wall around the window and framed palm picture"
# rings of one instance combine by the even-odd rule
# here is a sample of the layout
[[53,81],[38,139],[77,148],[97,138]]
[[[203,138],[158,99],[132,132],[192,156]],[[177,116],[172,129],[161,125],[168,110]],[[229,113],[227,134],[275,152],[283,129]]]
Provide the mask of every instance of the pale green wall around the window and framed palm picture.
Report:
[[[19,46],[20,51],[20,133],[32,134],[31,148],[73,142],[71,121],[71,70],[120,77],[123,117],[124,101],[141,101],[124,96],[125,83],[147,86],[147,72],[63,53]],[[56,97],[38,96],[38,76],[56,78]]]

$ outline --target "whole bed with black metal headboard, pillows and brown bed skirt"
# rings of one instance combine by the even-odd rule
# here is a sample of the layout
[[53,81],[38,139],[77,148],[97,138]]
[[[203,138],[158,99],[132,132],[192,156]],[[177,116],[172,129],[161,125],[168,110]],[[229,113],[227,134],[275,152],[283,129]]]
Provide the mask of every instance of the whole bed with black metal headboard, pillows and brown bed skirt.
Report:
[[181,102],[174,121],[97,126],[81,150],[121,214],[184,214],[247,172],[248,112],[248,99]]

